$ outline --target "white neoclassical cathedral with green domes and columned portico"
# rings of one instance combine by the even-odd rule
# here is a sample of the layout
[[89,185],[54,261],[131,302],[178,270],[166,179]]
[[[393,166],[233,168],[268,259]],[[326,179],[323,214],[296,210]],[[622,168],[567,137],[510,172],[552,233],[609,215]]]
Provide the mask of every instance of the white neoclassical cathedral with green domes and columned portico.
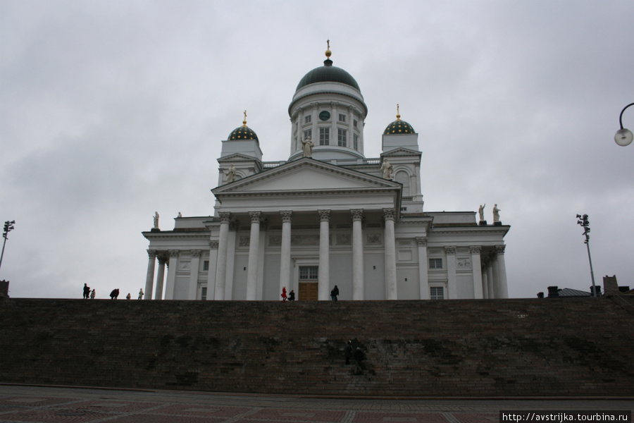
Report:
[[510,226],[487,224],[481,210],[479,221],[423,211],[414,128],[397,113],[381,156],[367,159],[359,85],[332,66],[330,49],[323,63],[288,107],[287,161],[262,161],[245,113],[222,142],[213,216],[179,214],[162,231],[156,214],[143,232],[145,298],[274,301],[286,288],[330,300],[335,286],[340,300],[507,298]]

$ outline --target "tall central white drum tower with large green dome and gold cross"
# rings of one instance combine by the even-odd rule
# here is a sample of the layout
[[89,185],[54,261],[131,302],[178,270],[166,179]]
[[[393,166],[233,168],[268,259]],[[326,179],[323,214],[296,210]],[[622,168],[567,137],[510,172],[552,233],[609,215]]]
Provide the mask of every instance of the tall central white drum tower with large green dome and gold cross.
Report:
[[302,158],[302,141],[311,138],[317,160],[364,159],[363,123],[368,106],[359,84],[332,66],[330,42],[323,66],[299,81],[288,114],[292,124],[289,161]]

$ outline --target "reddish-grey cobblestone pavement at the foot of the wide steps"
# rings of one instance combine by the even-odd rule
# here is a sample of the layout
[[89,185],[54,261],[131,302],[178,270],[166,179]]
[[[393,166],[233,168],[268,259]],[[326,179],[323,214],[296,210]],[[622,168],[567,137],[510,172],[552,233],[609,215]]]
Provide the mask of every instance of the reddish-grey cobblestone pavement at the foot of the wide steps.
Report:
[[633,409],[633,398],[315,398],[0,385],[0,423],[496,423],[501,410],[631,412]]

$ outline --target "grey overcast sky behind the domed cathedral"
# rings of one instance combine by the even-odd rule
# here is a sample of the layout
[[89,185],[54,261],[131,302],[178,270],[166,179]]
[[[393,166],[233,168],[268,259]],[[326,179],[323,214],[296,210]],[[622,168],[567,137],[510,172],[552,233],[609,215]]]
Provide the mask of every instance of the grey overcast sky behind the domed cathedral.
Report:
[[[144,288],[155,211],[213,214],[242,111],[290,154],[297,82],[332,61],[368,105],[365,154],[418,133],[425,210],[498,204],[511,298],[634,288],[634,1],[0,0],[0,268],[11,297]],[[634,129],[634,106],[623,116]]]

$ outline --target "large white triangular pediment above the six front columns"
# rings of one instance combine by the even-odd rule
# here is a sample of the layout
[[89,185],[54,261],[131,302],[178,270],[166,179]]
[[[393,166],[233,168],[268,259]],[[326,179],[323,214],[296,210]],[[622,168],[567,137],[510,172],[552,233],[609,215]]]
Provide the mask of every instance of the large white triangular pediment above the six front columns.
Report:
[[258,192],[395,190],[400,184],[314,159],[282,164],[235,183],[214,188],[218,196]]

